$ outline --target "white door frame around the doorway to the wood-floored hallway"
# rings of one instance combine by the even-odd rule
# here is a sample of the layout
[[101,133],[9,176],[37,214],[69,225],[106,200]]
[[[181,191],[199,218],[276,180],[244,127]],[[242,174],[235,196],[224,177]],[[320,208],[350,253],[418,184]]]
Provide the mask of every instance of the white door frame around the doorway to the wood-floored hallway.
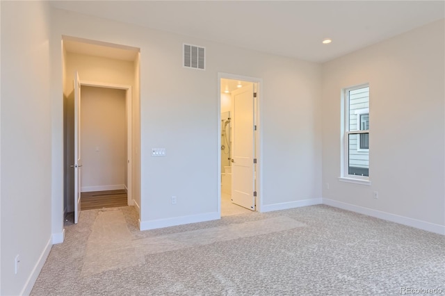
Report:
[[81,86],[94,86],[97,88],[114,88],[117,90],[125,90],[125,106],[126,106],[126,113],[127,113],[127,204],[129,206],[133,206],[133,196],[132,190],[133,190],[133,183],[131,179],[131,173],[133,172],[133,159],[132,156],[132,96],[131,96],[131,85],[120,85],[120,84],[113,84],[113,83],[102,83],[102,82],[94,82],[94,81],[80,81]]

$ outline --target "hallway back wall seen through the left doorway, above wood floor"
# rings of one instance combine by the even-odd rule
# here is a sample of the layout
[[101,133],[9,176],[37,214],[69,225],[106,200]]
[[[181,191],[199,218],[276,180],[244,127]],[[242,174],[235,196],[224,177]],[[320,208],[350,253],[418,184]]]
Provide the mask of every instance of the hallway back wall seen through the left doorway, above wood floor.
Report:
[[81,87],[81,192],[127,187],[125,93]]

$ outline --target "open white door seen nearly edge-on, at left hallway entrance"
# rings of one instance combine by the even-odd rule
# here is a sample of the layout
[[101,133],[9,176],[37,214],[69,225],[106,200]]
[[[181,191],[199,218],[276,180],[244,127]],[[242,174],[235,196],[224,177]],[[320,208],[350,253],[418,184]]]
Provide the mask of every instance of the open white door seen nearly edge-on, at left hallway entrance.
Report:
[[81,84],[74,74],[74,224],[81,213]]

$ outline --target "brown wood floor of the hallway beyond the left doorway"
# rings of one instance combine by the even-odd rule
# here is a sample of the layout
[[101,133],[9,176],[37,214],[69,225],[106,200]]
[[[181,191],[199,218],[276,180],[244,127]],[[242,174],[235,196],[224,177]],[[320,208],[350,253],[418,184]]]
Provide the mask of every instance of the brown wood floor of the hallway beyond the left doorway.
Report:
[[81,192],[81,210],[93,208],[114,208],[127,206],[127,192],[125,190],[107,190]]

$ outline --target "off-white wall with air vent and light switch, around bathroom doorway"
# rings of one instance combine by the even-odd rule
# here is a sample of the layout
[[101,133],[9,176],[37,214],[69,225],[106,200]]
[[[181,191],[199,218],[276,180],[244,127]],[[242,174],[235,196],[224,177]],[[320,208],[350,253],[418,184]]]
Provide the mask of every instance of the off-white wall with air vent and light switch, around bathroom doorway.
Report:
[[[143,228],[218,217],[218,72],[264,81],[259,192],[264,211],[321,199],[319,65],[63,10],[54,10],[52,28],[55,49],[61,35],[140,48]],[[182,67],[183,42],[207,48],[205,71]],[[51,58],[60,63],[60,57]],[[61,85],[60,71],[52,79]],[[59,112],[55,108],[54,116]],[[167,156],[150,156],[152,147],[164,147]]]

